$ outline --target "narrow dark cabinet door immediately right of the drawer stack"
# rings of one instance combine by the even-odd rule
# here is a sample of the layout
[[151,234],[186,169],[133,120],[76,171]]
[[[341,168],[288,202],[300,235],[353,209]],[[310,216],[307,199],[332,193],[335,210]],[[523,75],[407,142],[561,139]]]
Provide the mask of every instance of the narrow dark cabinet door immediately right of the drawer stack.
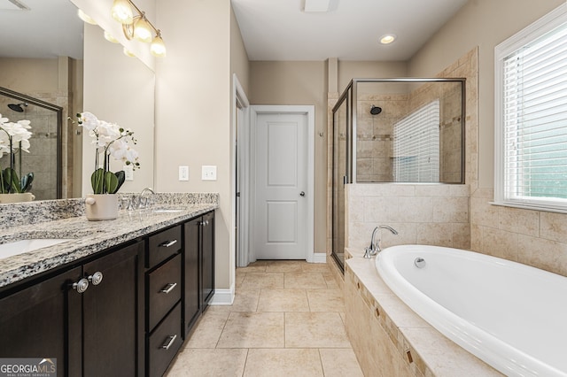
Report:
[[199,275],[199,233],[201,218],[191,219],[184,225],[185,250],[183,252],[183,323],[187,336],[201,312]]

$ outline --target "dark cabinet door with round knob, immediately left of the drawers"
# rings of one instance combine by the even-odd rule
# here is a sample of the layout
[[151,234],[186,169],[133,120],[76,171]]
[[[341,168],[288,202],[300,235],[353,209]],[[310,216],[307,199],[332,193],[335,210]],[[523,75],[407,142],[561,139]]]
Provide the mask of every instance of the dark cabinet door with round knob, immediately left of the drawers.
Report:
[[[83,265],[91,281],[82,296],[83,375],[135,376],[137,371],[139,265],[144,242]],[[143,280],[142,280],[143,281]]]

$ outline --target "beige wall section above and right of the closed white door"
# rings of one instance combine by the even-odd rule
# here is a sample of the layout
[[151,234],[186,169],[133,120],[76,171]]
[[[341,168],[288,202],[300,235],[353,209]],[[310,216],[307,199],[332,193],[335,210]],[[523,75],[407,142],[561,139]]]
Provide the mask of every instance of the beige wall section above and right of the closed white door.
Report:
[[[315,252],[326,252],[327,70],[325,62],[250,62],[251,104],[315,105]],[[323,133],[323,136],[319,134]]]

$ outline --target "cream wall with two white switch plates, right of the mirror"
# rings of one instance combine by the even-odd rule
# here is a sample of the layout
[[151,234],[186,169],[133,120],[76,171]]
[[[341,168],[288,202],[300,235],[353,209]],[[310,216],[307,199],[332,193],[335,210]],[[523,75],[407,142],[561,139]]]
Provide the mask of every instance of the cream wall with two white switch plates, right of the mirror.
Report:
[[[156,188],[218,192],[216,286],[234,283],[230,227],[230,2],[157,2],[167,58],[157,62]],[[166,29],[167,27],[167,29]],[[166,33],[167,32],[167,39]],[[189,181],[178,166],[189,166]],[[201,181],[201,166],[216,165],[217,181]]]

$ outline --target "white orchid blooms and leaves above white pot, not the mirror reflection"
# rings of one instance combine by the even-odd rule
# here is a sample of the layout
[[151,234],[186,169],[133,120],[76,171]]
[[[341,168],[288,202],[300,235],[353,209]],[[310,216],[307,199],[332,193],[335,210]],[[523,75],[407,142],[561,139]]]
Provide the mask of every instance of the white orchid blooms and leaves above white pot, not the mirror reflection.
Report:
[[124,183],[126,174],[123,170],[116,173],[110,171],[110,157],[122,161],[124,165],[132,165],[133,170],[140,167],[138,153],[131,146],[136,144],[134,132],[116,123],[97,119],[91,112],[78,113],[77,119],[79,126],[89,130],[92,143],[97,148],[95,171],[90,176],[93,193],[115,194]]

